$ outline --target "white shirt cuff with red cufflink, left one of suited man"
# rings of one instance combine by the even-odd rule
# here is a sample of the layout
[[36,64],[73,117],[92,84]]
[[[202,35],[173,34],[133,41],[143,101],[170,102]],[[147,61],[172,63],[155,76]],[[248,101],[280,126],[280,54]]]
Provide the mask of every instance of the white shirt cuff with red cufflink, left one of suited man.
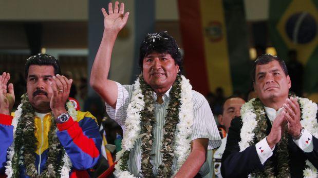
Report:
[[273,149],[271,149],[271,147],[269,147],[267,141],[266,141],[266,137],[259,141],[256,145],[256,152],[258,154],[260,163],[264,165],[264,163],[266,162],[267,159],[269,159],[272,155],[273,155],[273,150],[275,148],[275,146],[273,147]]

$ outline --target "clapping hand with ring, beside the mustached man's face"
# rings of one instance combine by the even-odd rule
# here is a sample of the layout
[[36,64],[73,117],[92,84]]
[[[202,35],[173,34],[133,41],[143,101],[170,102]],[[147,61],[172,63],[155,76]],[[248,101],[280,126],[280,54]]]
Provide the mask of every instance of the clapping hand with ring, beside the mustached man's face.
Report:
[[50,83],[53,95],[50,101],[50,108],[55,117],[58,117],[62,113],[66,112],[65,104],[69,96],[73,80],[68,80],[65,76],[57,74],[53,76],[53,80]]

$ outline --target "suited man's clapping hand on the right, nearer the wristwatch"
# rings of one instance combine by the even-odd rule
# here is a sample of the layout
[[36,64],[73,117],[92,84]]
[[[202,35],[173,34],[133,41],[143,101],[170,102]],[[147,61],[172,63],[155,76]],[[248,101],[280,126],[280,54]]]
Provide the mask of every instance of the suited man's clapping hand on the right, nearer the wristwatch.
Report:
[[302,129],[301,124],[301,109],[297,102],[297,98],[287,98],[284,104],[284,108],[287,111],[285,118],[288,122],[288,133],[293,137],[297,137]]

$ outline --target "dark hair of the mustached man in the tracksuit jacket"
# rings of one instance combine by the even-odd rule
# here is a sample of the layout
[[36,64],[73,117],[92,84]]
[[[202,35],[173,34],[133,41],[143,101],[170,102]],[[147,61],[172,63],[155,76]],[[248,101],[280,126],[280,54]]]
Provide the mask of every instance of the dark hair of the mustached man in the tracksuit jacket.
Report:
[[29,67],[31,65],[53,66],[54,74],[61,74],[60,63],[57,58],[48,54],[35,54],[27,59],[25,63],[25,78],[28,78]]

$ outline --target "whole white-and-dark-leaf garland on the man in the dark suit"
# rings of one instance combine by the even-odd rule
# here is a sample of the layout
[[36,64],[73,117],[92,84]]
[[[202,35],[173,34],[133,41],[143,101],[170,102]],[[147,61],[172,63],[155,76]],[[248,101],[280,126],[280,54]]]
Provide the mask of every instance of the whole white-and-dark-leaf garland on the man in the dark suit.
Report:
[[[302,126],[312,133],[314,136],[318,135],[318,124],[316,121],[317,105],[307,98],[297,97],[298,103],[301,107],[301,124]],[[245,150],[247,147],[254,144],[254,137],[256,141],[260,141],[266,137],[267,121],[265,117],[265,110],[259,98],[253,98],[241,107],[242,128],[240,132],[241,141],[238,143],[240,151]],[[288,166],[289,153],[287,151],[288,134],[284,133],[282,139],[278,143],[278,176],[290,176]],[[305,177],[316,177],[317,169],[307,160],[307,168],[304,169]],[[254,172],[253,176],[267,177],[274,176],[273,167],[271,162],[265,163],[264,172]],[[312,176],[313,175],[313,176]]]

